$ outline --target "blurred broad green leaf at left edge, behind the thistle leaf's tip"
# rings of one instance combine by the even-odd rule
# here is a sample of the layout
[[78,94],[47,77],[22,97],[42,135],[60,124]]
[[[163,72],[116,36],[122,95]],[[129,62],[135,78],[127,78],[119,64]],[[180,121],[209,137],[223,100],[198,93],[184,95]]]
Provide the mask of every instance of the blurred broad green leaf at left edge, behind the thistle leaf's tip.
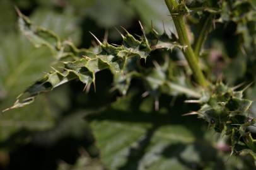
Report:
[[[15,98],[20,90],[30,84],[30,81],[37,79],[42,71],[49,69],[47,65],[52,61],[49,52],[45,49],[35,49],[27,44],[24,37],[17,34],[10,34],[4,42],[1,42],[0,60],[1,110],[13,102],[10,96]],[[38,108],[44,109],[38,110]],[[10,130],[18,130],[21,127],[45,128],[52,125],[51,121],[52,115],[47,101],[40,98],[30,108],[1,115],[1,140],[8,137]]]

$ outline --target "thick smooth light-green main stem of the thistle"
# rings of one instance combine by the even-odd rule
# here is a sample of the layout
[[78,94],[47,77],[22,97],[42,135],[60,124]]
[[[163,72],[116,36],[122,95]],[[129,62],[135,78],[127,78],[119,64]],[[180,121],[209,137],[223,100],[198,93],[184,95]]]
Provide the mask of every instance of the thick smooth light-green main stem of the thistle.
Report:
[[173,10],[177,9],[177,1],[165,0],[165,3],[170,13],[172,14],[173,22],[178,33],[178,39],[180,41],[180,44],[185,47],[185,49],[183,50],[183,54],[185,55],[185,58],[187,59],[187,62],[189,63],[189,66],[193,71],[193,76],[195,77],[195,80],[201,86],[207,86],[207,81],[204,77],[204,74],[202,74],[201,69],[199,68],[199,62],[197,60],[197,57],[195,57],[194,50],[192,50],[192,47],[190,45],[189,36],[187,35],[187,28],[185,26],[183,15],[177,15],[172,13]]

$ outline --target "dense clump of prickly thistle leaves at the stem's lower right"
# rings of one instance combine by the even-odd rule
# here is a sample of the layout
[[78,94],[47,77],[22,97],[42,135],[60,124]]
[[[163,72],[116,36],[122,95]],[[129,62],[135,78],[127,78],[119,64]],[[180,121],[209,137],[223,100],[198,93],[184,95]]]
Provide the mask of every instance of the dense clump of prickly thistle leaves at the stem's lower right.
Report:
[[222,82],[212,86],[207,93],[207,98],[201,99],[202,106],[197,111],[199,117],[209,122],[216,132],[230,135],[232,153],[239,153],[241,144],[255,152],[256,143],[248,130],[256,123],[248,113],[252,101],[243,99],[243,91],[234,91]]

